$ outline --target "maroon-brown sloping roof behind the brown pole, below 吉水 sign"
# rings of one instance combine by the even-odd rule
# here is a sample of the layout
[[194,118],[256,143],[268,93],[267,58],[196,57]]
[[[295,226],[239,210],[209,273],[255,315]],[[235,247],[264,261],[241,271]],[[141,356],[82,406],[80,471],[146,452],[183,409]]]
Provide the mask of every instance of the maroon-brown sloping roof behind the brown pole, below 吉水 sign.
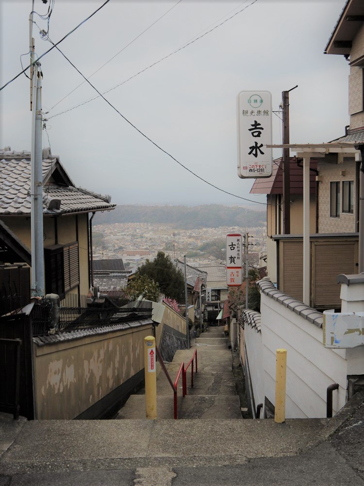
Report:
[[[317,161],[311,159],[310,167],[311,169],[317,169]],[[311,194],[315,193],[315,176],[316,174],[313,171],[310,171]],[[298,167],[294,157],[290,157],[289,159],[289,179],[291,194],[303,194],[303,168]],[[283,194],[283,172],[281,158],[277,158],[273,161],[272,175],[270,177],[255,179],[250,193]]]

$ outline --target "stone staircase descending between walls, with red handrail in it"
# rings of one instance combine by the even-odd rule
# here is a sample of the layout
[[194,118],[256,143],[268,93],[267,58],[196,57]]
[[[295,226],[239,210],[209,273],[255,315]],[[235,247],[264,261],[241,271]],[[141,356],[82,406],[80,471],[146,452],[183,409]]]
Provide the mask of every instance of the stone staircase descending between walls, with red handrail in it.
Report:
[[[187,364],[197,349],[198,373],[194,373],[191,388],[191,366],[187,370],[187,395],[182,397],[182,377],[178,382],[178,418],[242,418],[240,400],[232,374],[232,353],[224,327],[208,328],[201,337],[192,340],[190,349],[178,350],[171,363],[166,363],[174,382],[182,361]],[[157,419],[173,417],[173,390],[163,369],[157,363]],[[145,418],[144,390],[131,395],[117,419]]]

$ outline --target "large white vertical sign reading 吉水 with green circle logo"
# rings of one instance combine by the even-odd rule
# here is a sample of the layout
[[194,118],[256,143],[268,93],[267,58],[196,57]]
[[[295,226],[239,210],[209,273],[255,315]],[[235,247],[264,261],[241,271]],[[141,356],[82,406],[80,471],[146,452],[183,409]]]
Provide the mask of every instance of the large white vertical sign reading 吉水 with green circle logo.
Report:
[[238,176],[272,174],[272,95],[269,91],[240,91],[237,96]]

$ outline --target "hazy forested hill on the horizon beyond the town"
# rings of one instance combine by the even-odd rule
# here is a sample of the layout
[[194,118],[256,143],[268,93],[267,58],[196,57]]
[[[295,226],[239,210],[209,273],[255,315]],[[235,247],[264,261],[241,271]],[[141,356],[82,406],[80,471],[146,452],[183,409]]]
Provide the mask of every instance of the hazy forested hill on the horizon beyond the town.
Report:
[[181,229],[218,226],[239,226],[241,228],[265,226],[265,206],[262,209],[239,206],[116,206],[109,212],[97,212],[95,224],[151,223],[172,225]]

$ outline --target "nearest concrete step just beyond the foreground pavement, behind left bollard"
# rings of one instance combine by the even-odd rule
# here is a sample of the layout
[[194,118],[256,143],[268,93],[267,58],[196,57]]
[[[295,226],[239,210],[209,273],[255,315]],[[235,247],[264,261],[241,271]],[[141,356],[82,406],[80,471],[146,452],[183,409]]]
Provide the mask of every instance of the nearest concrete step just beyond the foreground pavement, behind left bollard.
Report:
[[[178,397],[177,404],[179,419],[242,418],[237,395],[186,395],[185,397]],[[116,419],[124,420],[143,418],[145,418],[145,395],[131,395],[116,417]],[[173,394],[157,396],[157,419],[170,418],[174,418]]]

